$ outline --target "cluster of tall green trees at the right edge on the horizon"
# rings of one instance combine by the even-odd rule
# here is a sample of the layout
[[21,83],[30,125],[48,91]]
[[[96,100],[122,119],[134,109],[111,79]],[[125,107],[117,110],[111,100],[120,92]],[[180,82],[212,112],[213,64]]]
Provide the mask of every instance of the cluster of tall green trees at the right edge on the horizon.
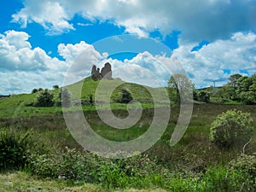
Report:
[[251,77],[233,74],[218,90],[217,96],[246,104],[256,104],[256,74]]

